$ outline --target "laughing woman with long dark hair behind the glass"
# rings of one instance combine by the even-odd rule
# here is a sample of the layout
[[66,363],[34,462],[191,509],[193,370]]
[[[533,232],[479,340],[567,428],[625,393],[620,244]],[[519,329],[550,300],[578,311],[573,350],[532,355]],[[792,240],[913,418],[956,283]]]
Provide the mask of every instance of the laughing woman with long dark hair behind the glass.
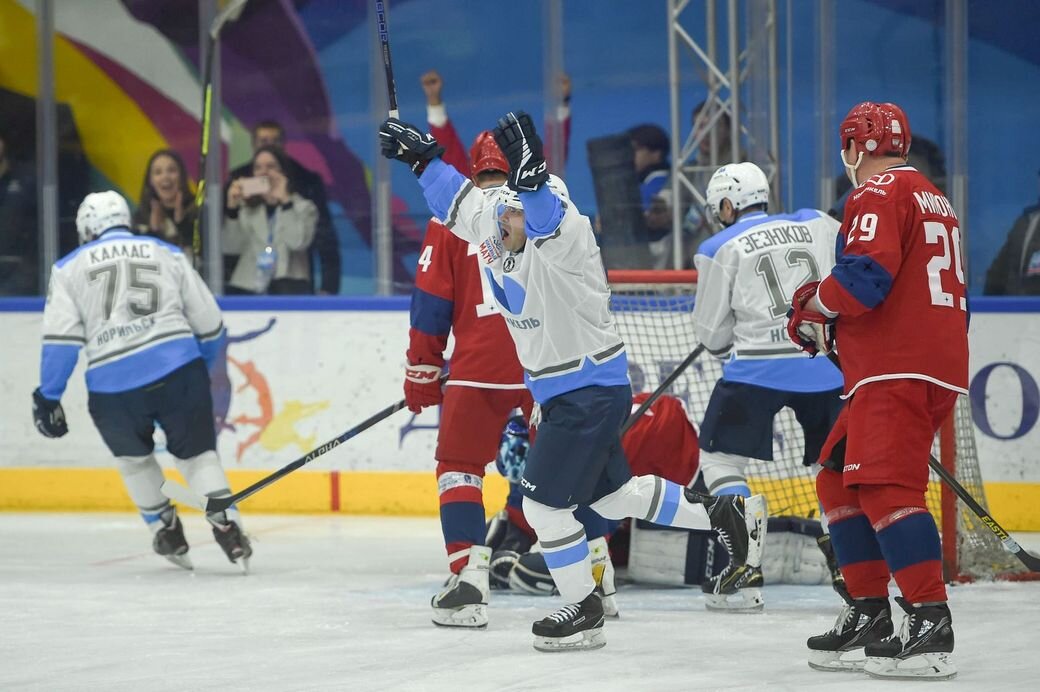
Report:
[[193,265],[192,241],[198,213],[184,159],[171,149],[152,154],[137,198],[134,229],[141,235],[152,235],[177,246]]

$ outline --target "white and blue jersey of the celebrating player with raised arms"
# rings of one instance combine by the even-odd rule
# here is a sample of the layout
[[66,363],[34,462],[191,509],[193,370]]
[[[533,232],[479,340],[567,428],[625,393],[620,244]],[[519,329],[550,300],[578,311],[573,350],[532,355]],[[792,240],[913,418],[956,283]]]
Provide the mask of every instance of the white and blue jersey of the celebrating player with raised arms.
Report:
[[[625,344],[615,328],[606,273],[587,216],[548,185],[521,194],[528,237],[526,247],[513,253],[502,246],[494,190],[480,190],[439,159],[419,182],[434,215],[477,247],[535,401],[592,385],[628,384]],[[553,209],[542,229],[531,226],[529,205],[536,203]]]

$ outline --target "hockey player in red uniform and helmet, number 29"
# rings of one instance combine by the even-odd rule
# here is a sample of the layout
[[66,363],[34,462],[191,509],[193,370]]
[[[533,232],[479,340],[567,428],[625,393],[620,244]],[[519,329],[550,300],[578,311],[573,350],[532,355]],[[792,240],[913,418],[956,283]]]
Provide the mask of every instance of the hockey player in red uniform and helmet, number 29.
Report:
[[[907,165],[910,125],[898,106],[857,105],[840,137],[856,187],[837,263],[799,288],[788,313],[788,334],[810,354],[827,353],[836,333],[849,399],[824,447],[816,491],[851,598],[832,632],[809,639],[809,662],[948,678],[954,633],[925,491],[935,432],[967,393],[959,223],[946,198]],[[898,634],[890,575],[906,612]],[[865,663],[850,660],[861,647]]]

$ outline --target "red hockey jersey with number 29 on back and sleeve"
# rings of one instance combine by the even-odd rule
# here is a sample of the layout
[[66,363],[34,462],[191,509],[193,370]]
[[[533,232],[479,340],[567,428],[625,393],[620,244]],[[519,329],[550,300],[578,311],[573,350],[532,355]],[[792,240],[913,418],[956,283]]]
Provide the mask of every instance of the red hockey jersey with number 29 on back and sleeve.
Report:
[[967,393],[959,226],[950,201],[910,165],[853,191],[837,263],[817,292],[825,310],[838,314],[847,394],[866,382],[904,378]]

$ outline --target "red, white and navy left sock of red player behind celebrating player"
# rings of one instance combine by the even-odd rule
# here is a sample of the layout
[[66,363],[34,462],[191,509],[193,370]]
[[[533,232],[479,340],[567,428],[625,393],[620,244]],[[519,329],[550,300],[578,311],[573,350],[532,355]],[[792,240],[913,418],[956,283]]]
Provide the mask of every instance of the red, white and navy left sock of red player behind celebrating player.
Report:
[[[469,560],[469,548],[485,539],[484,469],[479,472],[448,470],[437,464],[437,491],[441,504],[441,532],[448,563],[458,574]],[[458,464],[452,464],[458,468]]]

